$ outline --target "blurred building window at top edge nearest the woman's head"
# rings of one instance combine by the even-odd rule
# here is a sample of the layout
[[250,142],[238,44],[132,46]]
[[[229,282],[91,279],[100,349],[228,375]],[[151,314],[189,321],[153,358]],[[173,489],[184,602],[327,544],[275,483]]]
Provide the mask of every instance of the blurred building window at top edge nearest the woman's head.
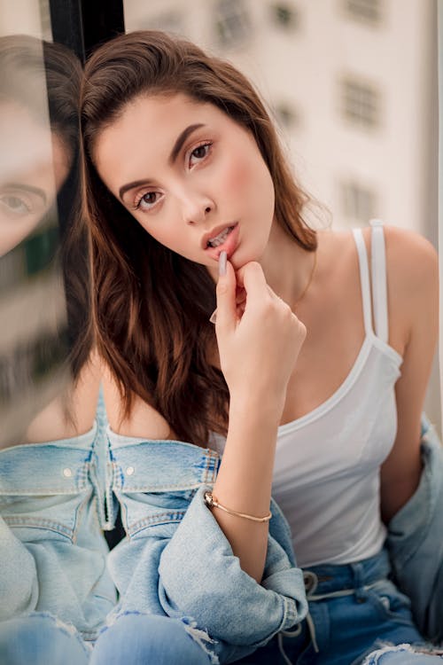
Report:
[[215,32],[220,46],[238,46],[250,37],[251,17],[244,0],[218,0],[215,4]]

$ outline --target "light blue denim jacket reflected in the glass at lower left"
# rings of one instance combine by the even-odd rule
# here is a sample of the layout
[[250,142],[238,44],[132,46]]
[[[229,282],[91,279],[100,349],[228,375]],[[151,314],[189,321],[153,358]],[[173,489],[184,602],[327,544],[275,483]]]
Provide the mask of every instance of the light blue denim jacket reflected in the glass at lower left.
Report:
[[[116,602],[105,562],[97,424],[0,450],[0,620],[50,613],[93,640]],[[99,499],[99,500],[97,500]]]

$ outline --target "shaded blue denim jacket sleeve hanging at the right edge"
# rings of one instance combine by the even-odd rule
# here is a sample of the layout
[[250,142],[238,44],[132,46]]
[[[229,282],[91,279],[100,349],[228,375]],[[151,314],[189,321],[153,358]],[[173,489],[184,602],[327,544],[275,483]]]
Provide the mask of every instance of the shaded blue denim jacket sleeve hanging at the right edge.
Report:
[[418,628],[437,643],[443,641],[443,449],[425,416],[421,452],[419,486],[390,521],[386,544]]

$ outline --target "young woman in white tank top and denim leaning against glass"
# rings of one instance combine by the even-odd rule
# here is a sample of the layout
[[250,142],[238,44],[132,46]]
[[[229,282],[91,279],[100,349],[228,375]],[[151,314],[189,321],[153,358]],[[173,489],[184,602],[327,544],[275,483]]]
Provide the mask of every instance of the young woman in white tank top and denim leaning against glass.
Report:
[[[92,661],[344,665],[423,643],[384,543],[422,487],[435,251],[380,223],[310,229],[252,85],[191,43],[106,43],[81,106],[128,534]],[[399,657],[439,661],[368,662]]]

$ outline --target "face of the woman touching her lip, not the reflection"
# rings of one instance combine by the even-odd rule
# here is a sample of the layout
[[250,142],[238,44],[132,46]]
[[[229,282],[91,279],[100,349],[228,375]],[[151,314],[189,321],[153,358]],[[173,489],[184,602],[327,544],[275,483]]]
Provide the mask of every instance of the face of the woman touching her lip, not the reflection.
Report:
[[259,260],[274,185],[252,135],[212,104],[183,94],[140,97],[94,146],[99,176],[153,238],[216,267]]

